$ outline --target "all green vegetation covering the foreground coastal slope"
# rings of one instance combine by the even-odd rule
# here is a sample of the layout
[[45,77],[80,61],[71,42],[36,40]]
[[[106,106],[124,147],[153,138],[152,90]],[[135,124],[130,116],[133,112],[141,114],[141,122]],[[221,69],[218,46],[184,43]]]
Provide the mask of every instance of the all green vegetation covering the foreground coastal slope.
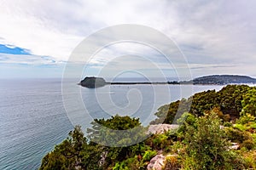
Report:
[[[255,87],[229,85],[164,105],[152,124],[185,122],[177,131],[152,134],[145,140],[141,139],[147,128],[137,118],[96,119],[87,129],[87,137],[75,127],[44,156],[40,169],[147,169],[160,153],[165,156],[165,169],[256,169],[255,92]],[[176,114],[178,120],[174,120]],[[117,135],[112,130],[123,133]],[[128,145],[130,132],[141,142]],[[232,149],[234,144],[236,149]]]

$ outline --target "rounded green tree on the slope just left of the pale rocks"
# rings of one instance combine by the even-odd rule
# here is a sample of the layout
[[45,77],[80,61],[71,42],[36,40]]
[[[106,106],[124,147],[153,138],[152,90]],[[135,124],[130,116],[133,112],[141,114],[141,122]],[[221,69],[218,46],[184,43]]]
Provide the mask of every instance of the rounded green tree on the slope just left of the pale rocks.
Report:
[[87,129],[90,144],[105,145],[107,167],[137,156],[143,139],[147,137],[147,128],[141,125],[138,118],[130,116],[116,115],[107,120],[95,119],[91,124],[92,127]]

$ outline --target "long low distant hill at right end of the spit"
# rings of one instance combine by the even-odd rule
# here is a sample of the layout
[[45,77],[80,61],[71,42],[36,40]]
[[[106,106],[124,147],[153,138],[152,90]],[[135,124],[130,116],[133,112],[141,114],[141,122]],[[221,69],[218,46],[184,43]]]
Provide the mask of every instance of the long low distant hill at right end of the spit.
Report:
[[212,75],[198,77],[193,80],[193,84],[230,84],[230,83],[256,83],[256,79],[239,75]]

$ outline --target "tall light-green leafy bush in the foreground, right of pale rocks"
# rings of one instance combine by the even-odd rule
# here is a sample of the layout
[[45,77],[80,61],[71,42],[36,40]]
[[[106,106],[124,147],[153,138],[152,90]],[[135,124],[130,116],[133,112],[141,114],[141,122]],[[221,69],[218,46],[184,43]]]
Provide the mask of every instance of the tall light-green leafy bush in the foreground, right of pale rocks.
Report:
[[[228,139],[217,114],[199,117],[197,127],[188,126],[185,133],[187,144],[184,157],[185,169],[229,169],[236,156],[230,150]],[[190,164],[188,162],[191,162]],[[241,165],[242,166],[242,165]]]

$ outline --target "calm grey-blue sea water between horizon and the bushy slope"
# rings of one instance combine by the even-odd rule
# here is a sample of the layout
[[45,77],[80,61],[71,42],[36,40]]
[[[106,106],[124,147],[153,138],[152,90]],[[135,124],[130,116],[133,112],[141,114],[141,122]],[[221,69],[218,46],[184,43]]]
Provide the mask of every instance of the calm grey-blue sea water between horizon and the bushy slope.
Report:
[[[73,124],[88,120],[84,110],[75,107],[74,96],[81,93],[90,119],[115,114],[140,117],[147,125],[160,105],[187,98],[207,89],[222,86],[132,85],[81,88],[75,81],[70,89],[79,94],[65,94],[63,104],[60,79],[0,80],[0,169],[38,169],[42,158],[67,138]],[[71,90],[71,92],[73,92]],[[171,94],[171,95],[170,95]],[[80,116],[76,116],[79,115]],[[77,120],[73,117],[77,117]],[[70,121],[71,120],[71,121]]]

